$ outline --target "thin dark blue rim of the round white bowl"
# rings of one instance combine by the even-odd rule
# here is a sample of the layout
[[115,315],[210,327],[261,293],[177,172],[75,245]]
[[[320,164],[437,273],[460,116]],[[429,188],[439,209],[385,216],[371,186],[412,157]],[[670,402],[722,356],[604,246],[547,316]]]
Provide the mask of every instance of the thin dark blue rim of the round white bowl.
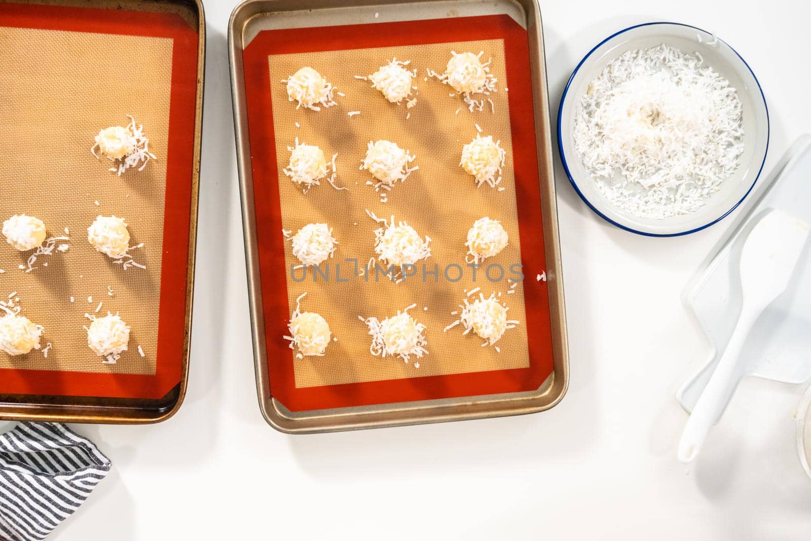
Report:
[[566,87],[563,90],[563,96],[560,97],[560,106],[558,107],[558,118],[557,118],[557,121],[558,121],[558,126],[557,126],[558,152],[560,153],[560,161],[563,162],[563,168],[566,171],[566,176],[569,177],[569,182],[572,183],[572,187],[574,188],[574,191],[576,191],[577,195],[580,195],[580,199],[583,200],[583,202],[586,205],[588,205],[589,208],[591,208],[591,210],[593,210],[595,214],[597,214],[599,217],[603,218],[603,220],[605,220],[608,223],[611,223],[613,225],[616,225],[620,229],[629,231],[631,233],[641,234],[641,235],[644,235],[646,237],[680,237],[682,235],[696,233],[697,231],[704,230],[704,229],[710,227],[710,225],[714,225],[714,224],[718,223],[719,221],[723,220],[730,213],[732,213],[732,211],[734,211],[736,208],[738,208],[740,206],[740,204],[743,203],[744,200],[749,196],[749,193],[751,193],[751,191],[755,187],[755,184],[757,184],[757,179],[760,178],[760,175],[761,175],[761,173],[763,171],[763,165],[766,163],[766,155],[769,153],[769,137],[771,135],[771,127],[770,127],[770,120],[769,120],[769,106],[766,105],[766,96],[764,96],[764,94],[763,94],[763,88],[761,88],[760,81],[757,80],[757,75],[755,75],[755,72],[752,71],[752,68],[749,67],[749,64],[744,60],[744,58],[742,56],[740,56],[738,51],[736,51],[732,47],[732,45],[729,45],[726,41],[723,41],[722,39],[720,39],[718,37],[715,37],[715,39],[717,39],[718,41],[721,41],[724,45],[727,45],[727,47],[729,47],[729,49],[731,49],[732,52],[735,53],[738,56],[738,58],[740,58],[740,62],[744,62],[744,66],[746,67],[746,69],[749,70],[749,73],[752,74],[753,79],[755,79],[755,84],[757,84],[757,90],[760,92],[761,98],[763,100],[763,108],[766,109],[766,149],[763,152],[763,161],[761,162],[760,169],[757,170],[757,174],[755,175],[755,178],[754,178],[754,180],[752,182],[752,186],[749,187],[749,190],[747,190],[746,193],[744,193],[744,196],[741,197],[740,200],[736,204],[732,205],[732,208],[727,210],[727,212],[723,213],[721,216],[715,218],[713,221],[710,221],[709,223],[707,223],[705,225],[702,225],[700,227],[697,227],[695,229],[692,229],[692,230],[681,231],[680,233],[650,233],[648,231],[635,230],[632,227],[629,227],[628,225],[622,225],[622,224],[620,224],[620,223],[618,223],[618,222],[616,222],[614,220],[611,220],[611,218],[607,217],[605,214],[601,213],[596,207],[594,207],[594,205],[591,204],[591,202],[588,199],[586,199],[586,195],[583,195],[583,192],[581,192],[580,188],[577,187],[577,182],[575,182],[574,178],[572,177],[572,172],[569,171],[569,164],[566,163],[566,155],[565,155],[564,150],[563,150],[563,135],[561,135],[561,133],[560,133],[560,131],[561,131],[560,130],[560,126],[561,126],[560,121],[561,121],[561,118],[563,117],[563,104],[564,104],[564,101],[566,100],[566,96],[569,94],[569,87],[571,86],[575,75],[577,75],[577,71],[580,70],[583,63],[585,63],[586,60],[589,59],[589,57],[591,56],[591,54],[594,53],[595,50],[599,49],[604,43],[614,39],[616,36],[619,36],[620,34],[624,34],[625,32],[629,32],[629,30],[633,30],[634,28],[641,28],[643,26],[653,26],[655,24],[672,24],[673,26],[684,26],[684,27],[687,27],[687,28],[693,28],[695,30],[698,30],[699,32],[704,32],[705,34],[710,34],[710,36],[715,37],[715,35],[713,33],[707,32],[706,30],[704,30],[702,28],[698,28],[698,27],[693,26],[691,24],[671,23],[671,22],[668,22],[668,21],[656,21],[656,22],[653,22],[653,23],[634,24],[633,26],[629,26],[628,28],[624,28],[624,29],[620,30],[619,32],[615,32],[615,33],[611,34],[611,36],[608,36],[603,41],[600,41],[597,45],[594,45],[594,48],[592,48],[586,54],[586,56],[584,56],[583,59],[577,64],[577,67],[574,68],[574,71],[572,72],[572,76],[569,77],[569,81],[566,82]]

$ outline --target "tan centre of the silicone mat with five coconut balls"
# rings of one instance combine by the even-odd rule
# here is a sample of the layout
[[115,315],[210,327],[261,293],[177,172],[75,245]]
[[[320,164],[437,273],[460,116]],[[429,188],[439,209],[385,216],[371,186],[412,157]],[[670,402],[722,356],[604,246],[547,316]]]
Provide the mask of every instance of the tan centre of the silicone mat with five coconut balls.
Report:
[[[16,291],[21,313],[45,327],[42,346],[52,344],[47,358],[0,352],[0,367],[155,373],[171,66],[167,38],[0,28],[0,221],[26,213],[49,237],[70,231],[70,249],[41,256],[31,273],[18,268],[30,252],[0,238],[0,298]],[[90,148],[101,128],[126,126],[125,114],[144,125],[158,160],[118,177]],[[146,270],[125,271],[88,244],[100,214],[127,218]],[[99,315],[118,311],[131,328],[115,364],[87,346],[84,314],[99,303]]]

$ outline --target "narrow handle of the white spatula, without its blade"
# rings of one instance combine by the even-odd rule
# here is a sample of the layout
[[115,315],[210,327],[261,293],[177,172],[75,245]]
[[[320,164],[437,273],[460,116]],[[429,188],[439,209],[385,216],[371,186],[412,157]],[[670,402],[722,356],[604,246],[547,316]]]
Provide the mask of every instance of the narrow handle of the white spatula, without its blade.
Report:
[[738,366],[740,353],[744,349],[749,331],[760,316],[761,310],[747,307],[744,303],[740,313],[740,320],[732,333],[727,349],[724,350],[718,366],[707,382],[702,396],[698,398],[693,413],[687,420],[684,432],[679,443],[679,460],[685,464],[692,462],[693,458],[701,452],[707,433],[710,432],[714,420],[718,419],[720,411],[724,406],[724,397],[727,387],[733,380],[733,376]]

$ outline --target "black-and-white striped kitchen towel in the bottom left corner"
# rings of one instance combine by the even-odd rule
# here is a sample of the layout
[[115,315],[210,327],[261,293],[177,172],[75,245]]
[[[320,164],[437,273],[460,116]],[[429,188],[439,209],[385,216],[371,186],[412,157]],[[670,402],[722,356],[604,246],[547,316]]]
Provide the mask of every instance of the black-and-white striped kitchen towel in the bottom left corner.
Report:
[[45,539],[104,479],[96,445],[58,423],[19,423],[0,434],[0,539]]

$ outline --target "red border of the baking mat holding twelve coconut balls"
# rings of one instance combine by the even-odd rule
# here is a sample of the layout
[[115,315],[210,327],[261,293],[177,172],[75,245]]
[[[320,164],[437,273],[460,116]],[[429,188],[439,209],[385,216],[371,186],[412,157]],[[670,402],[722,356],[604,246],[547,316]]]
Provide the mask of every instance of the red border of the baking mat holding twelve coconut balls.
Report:
[[[541,220],[539,167],[534,133],[530,50],[526,30],[507,15],[432,19],[324,28],[260,32],[243,51],[248,131],[263,290],[265,338],[271,394],[293,411],[365,406],[401,401],[513,393],[538,389],[551,374],[552,346],[546,283],[523,282],[530,367],[424,376],[296,389],[288,332],[285,238],[281,234],[281,202],[273,133],[268,55],[326,50],[504,40],[509,81],[508,102],[517,191],[521,264],[546,268]],[[283,105],[290,105],[285,102]],[[278,292],[272,294],[271,292]]]

